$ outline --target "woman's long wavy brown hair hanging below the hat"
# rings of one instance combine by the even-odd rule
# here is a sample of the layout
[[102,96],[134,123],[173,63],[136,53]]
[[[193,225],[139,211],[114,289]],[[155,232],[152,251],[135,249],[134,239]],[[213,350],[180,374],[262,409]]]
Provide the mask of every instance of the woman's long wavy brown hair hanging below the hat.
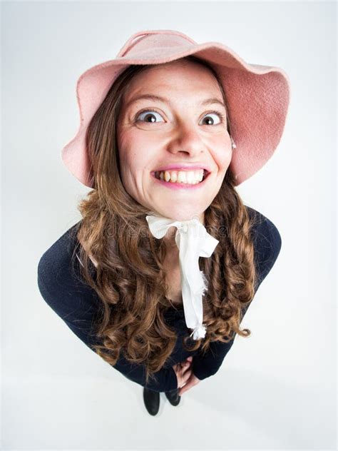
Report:
[[[184,59],[212,72],[228,110],[215,70],[195,56]],[[76,235],[81,276],[102,301],[95,330],[103,345],[92,348],[111,365],[120,355],[130,363],[144,365],[147,382],[168,365],[178,337],[164,317],[165,310],[172,307],[166,296],[165,241],[153,237],[145,220],[155,212],[140,205],[123,187],[116,126],[128,84],[148,67],[128,66],[119,74],[88,126],[86,146],[93,189],[78,204],[82,219]],[[227,131],[231,135],[229,111]],[[220,191],[205,211],[205,228],[219,240],[212,256],[200,259],[208,283],[203,295],[207,333],[205,338],[193,340],[187,330],[183,345],[188,352],[200,348],[205,353],[212,341],[227,343],[236,333],[250,335],[250,330],[240,330],[240,322],[243,308],[255,294],[252,224],[228,169]]]

